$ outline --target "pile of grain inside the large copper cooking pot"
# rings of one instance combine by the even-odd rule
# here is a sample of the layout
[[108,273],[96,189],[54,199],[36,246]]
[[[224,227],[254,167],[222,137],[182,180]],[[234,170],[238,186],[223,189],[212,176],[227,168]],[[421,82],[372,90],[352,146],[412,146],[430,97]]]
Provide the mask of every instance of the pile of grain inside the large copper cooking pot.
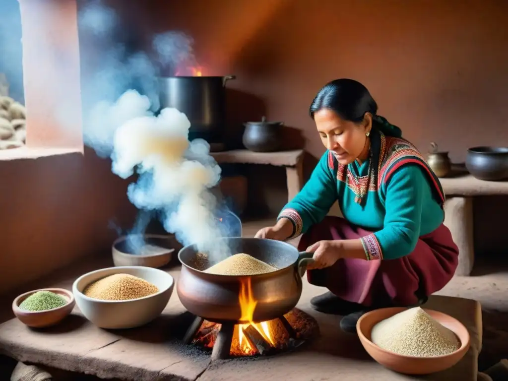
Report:
[[276,271],[275,267],[245,253],[235,254],[205,270],[217,275],[256,275]]

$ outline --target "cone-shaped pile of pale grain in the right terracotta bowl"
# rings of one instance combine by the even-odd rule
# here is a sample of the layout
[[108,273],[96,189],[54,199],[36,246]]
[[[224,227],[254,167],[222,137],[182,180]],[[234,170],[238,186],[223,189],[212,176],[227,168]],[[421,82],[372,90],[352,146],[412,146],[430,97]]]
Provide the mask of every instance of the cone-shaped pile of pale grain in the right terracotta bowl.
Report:
[[448,355],[460,347],[457,336],[420,307],[377,323],[372,328],[371,340],[385,350],[417,357]]

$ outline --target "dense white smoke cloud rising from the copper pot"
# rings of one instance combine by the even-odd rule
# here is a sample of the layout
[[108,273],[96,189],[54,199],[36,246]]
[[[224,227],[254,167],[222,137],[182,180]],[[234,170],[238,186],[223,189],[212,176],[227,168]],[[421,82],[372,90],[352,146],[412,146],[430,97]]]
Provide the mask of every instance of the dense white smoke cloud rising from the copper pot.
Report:
[[105,115],[121,123],[113,138],[113,172],[128,178],[136,171],[140,178],[129,185],[128,195],[138,209],[161,211],[167,231],[214,259],[223,257],[227,249],[211,244],[222,232],[214,213],[216,199],[208,190],[220,180],[210,146],[201,139],[188,141],[185,114],[165,108],[153,116],[149,106],[148,98],[134,90],[109,105]]

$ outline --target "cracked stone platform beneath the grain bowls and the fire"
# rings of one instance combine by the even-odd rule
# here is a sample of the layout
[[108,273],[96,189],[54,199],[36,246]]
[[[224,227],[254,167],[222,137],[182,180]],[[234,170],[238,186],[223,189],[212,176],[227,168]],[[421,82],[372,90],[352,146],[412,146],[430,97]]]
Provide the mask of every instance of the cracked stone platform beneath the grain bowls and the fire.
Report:
[[[109,262],[87,264],[98,268]],[[178,267],[169,270],[178,276]],[[79,273],[88,271],[83,267]],[[77,274],[53,285],[71,288]],[[46,284],[51,285],[51,284]],[[314,317],[321,335],[294,352],[275,356],[239,358],[210,362],[210,354],[184,345],[181,317],[185,310],[176,292],[163,312],[151,324],[134,330],[102,330],[86,321],[79,310],[62,324],[46,330],[30,330],[13,319],[0,326],[0,350],[23,362],[96,374],[101,378],[125,380],[196,380],[250,381],[262,378],[311,381],[358,381],[375,377],[377,381],[414,379],[378,365],[364,351],[356,335],[339,328],[339,317],[316,312],[310,308],[312,296],[322,289],[304,280],[298,308]],[[478,302],[461,298],[433,296],[428,308],[450,313],[462,321],[471,334],[471,348],[465,358],[452,369],[425,377],[428,380],[477,379],[477,360],[481,348],[481,318]],[[188,324],[188,319],[186,320]]]

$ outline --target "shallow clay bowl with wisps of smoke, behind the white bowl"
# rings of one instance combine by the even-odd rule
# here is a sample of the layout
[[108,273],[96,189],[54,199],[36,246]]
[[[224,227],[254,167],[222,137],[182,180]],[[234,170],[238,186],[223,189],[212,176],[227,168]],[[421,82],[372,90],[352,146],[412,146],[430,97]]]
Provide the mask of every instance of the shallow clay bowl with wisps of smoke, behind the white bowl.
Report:
[[[140,252],[134,253],[129,239],[140,240]],[[122,236],[113,242],[111,248],[115,266],[146,266],[160,268],[172,258],[175,240],[169,235],[136,234]]]

